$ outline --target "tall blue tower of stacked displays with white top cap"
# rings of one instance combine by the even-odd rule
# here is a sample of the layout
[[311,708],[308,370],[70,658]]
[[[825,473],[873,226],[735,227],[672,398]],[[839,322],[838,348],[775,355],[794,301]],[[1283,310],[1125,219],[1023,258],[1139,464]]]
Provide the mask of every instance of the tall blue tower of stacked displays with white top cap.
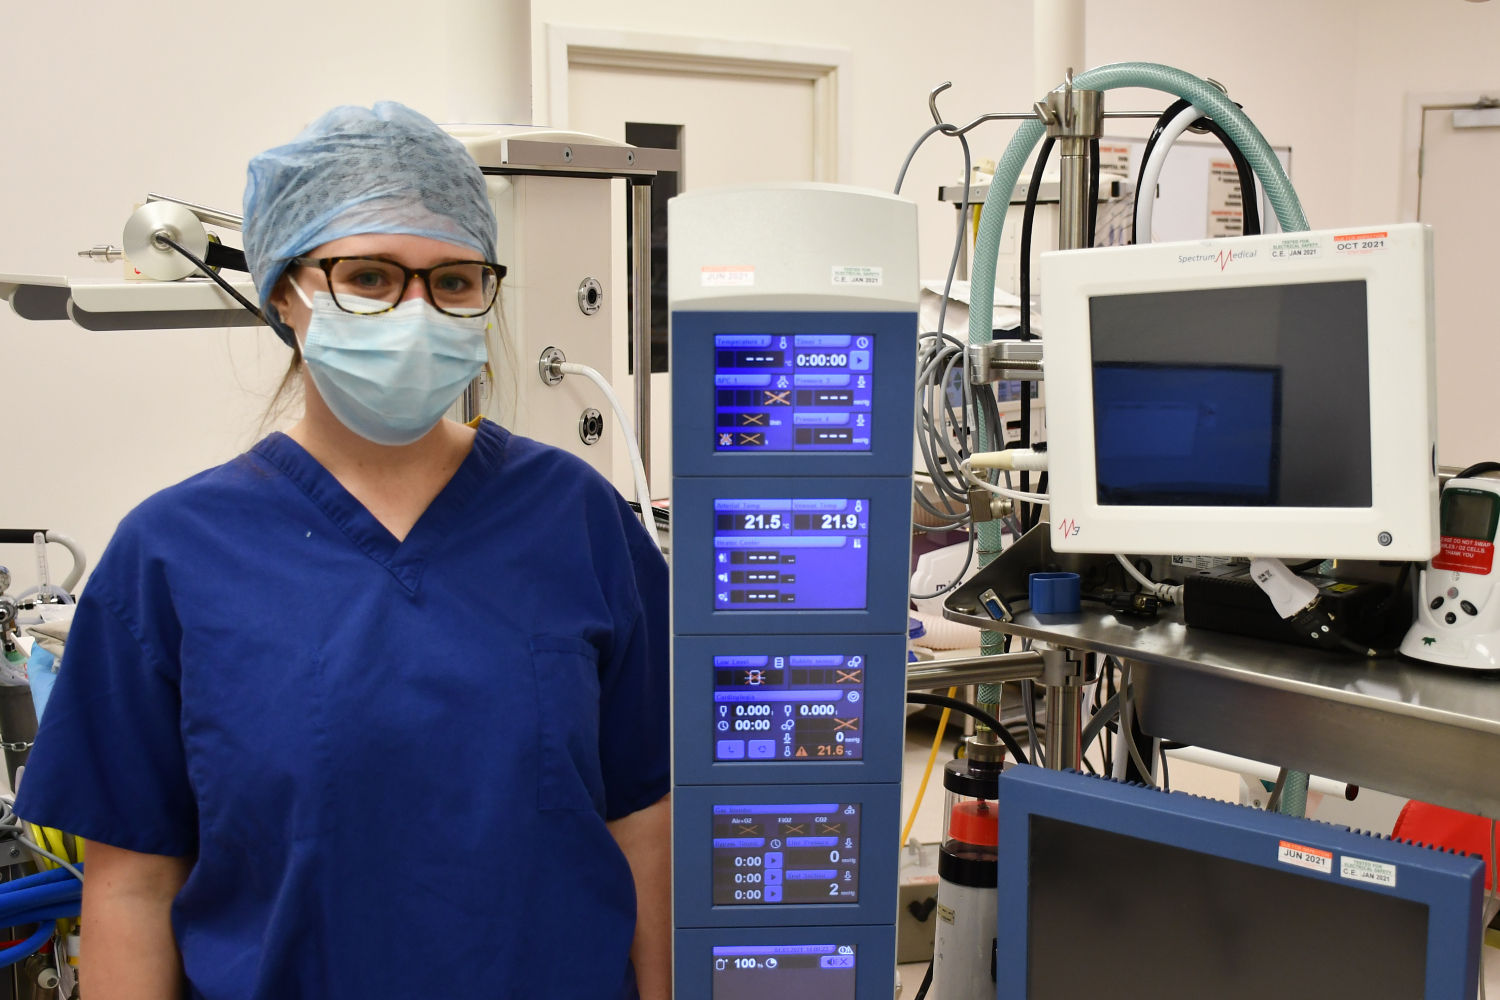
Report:
[[915,207],[741,187],[668,228],[678,996],[885,1000]]

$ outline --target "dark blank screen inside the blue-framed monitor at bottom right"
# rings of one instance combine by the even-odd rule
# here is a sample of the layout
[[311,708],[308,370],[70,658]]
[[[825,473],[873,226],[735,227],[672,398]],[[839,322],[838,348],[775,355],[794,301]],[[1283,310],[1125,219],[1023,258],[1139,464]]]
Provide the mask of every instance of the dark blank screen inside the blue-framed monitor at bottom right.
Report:
[[1028,1000],[1424,996],[1420,903],[1036,814],[1029,843]]

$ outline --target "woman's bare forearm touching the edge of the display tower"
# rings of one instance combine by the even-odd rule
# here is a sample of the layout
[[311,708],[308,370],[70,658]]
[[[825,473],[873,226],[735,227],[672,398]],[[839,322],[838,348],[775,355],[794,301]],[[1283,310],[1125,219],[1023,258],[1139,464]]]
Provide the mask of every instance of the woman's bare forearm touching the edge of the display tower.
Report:
[[630,961],[640,1000],[672,1000],[672,796],[620,817],[609,823],[609,832],[636,879]]

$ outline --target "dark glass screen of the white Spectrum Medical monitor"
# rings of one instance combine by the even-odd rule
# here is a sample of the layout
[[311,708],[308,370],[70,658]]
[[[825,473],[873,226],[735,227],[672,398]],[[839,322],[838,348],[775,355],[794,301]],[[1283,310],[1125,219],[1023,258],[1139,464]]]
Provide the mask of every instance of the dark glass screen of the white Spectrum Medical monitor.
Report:
[[1089,298],[1101,505],[1370,507],[1365,282]]

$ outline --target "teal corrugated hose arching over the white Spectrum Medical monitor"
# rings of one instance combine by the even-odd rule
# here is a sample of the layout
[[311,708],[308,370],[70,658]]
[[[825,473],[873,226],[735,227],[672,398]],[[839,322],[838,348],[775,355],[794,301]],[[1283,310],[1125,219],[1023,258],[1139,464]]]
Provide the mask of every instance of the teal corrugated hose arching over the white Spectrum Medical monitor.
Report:
[[[1120,87],[1146,87],[1161,90],[1176,97],[1191,100],[1210,118],[1220,123],[1224,132],[1234,139],[1245,159],[1250,160],[1260,183],[1266,187],[1266,198],[1276,213],[1276,220],[1286,232],[1300,232],[1308,228],[1306,216],[1302,214],[1302,202],[1292,189],[1281,160],[1270,150],[1260,130],[1245,117],[1245,112],[1234,106],[1234,102],[1224,96],[1218,87],[1192,73],[1158,63],[1112,63],[1078,73],[1072,78],[1072,85],[1078,90],[1118,90]],[[990,193],[984,199],[984,211],[980,216],[980,231],[974,240],[974,267],[969,277],[969,343],[988,343],[992,340],[992,316],[994,309],[994,264],[1000,249],[1000,232],[1005,228],[1005,211],[1010,207],[1011,190],[1016,180],[1026,166],[1026,159],[1047,127],[1036,120],[1024,121],[1005,147],[1005,156],[990,181]],[[1030,289],[1020,289],[1029,294]],[[990,439],[990,430],[984,426],[982,417],[978,427],[978,448],[1004,448],[1005,441]],[[978,526],[980,565],[987,565],[1000,552],[1000,526],[998,522],[982,522]],[[980,636],[980,649],[986,655],[1000,651],[1002,636],[986,631]],[[1281,793],[1281,811],[1290,816],[1302,816],[1306,808],[1308,777],[1300,771],[1287,774],[1287,783]]]

